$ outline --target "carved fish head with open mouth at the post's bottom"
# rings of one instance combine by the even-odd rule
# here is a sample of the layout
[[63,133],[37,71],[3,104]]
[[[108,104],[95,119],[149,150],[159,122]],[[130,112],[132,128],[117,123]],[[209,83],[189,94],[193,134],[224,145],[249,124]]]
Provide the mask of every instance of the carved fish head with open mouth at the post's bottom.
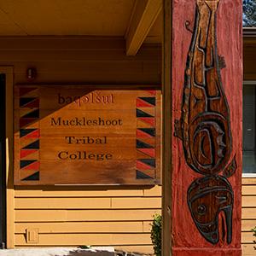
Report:
[[230,244],[233,192],[225,177],[207,176],[196,179],[188,190],[188,204],[197,229],[212,244],[219,241],[218,219],[220,212],[224,212],[222,234],[226,235],[226,241]]

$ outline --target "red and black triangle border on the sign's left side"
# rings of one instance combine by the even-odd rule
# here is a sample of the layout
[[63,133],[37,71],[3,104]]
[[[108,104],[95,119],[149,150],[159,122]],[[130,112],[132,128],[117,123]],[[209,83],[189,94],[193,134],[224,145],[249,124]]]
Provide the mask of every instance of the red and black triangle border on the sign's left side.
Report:
[[[22,181],[39,180],[40,131],[37,87],[20,87],[20,177]],[[22,146],[21,146],[22,145]]]

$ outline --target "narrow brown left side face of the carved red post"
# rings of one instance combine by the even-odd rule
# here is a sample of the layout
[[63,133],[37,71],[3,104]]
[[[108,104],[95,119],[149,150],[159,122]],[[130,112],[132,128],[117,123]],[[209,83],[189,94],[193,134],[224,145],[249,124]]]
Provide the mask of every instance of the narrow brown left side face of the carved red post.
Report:
[[172,0],[164,0],[162,255],[172,255]]

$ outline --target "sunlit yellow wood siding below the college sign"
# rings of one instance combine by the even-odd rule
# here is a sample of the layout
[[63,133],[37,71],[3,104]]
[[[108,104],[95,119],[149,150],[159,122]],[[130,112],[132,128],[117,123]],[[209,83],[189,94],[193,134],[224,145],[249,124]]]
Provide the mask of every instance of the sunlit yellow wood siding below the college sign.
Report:
[[[150,253],[150,224],[160,213],[160,193],[160,186],[15,189],[15,246],[96,245]],[[26,229],[35,228],[39,242],[27,244]]]

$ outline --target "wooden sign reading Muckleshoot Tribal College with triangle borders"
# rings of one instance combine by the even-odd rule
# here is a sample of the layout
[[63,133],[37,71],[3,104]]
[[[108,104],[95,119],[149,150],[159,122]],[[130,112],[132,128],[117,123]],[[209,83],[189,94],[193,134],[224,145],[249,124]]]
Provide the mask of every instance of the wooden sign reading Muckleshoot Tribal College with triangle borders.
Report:
[[15,184],[160,182],[160,90],[15,87]]

